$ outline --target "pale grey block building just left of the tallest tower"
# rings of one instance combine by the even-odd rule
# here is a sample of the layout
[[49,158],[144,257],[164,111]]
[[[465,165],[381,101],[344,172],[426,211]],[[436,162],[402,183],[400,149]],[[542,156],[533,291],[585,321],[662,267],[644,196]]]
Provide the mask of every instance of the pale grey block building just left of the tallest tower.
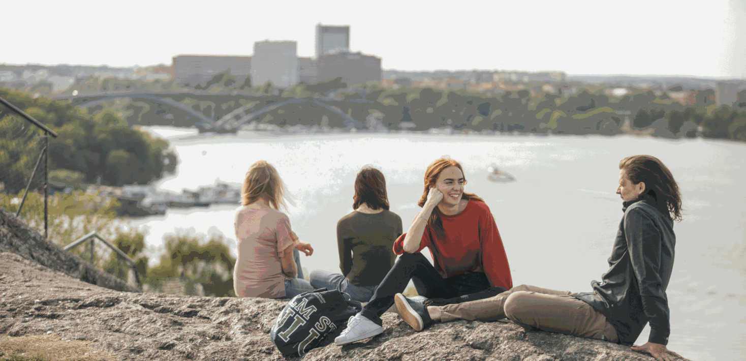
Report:
[[251,57],[251,83],[258,86],[272,81],[275,87],[288,88],[300,82],[298,43],[294,41],[260,41],[254,43]]

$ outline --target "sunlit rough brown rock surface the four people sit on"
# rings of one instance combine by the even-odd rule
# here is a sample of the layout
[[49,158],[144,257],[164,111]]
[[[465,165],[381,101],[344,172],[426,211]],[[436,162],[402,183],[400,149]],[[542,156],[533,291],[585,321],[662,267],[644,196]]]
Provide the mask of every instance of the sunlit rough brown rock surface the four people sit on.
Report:
[[[209,298],[104,289],[0,253],[0,336],[93,341],[119,360],[300,360],[285,358],[269,329],[287,301]],[[395,313],[372,339],[327,345],[302,360],[653,360],[609,342],[525,332],[509,321],[455,321],[415,332]]]

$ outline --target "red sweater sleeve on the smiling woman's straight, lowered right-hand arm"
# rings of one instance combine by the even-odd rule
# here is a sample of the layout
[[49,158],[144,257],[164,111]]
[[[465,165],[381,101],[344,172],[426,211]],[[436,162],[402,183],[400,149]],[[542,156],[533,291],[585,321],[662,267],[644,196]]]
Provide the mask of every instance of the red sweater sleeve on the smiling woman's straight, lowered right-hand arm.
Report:
[[500,237],[495,217],[486,207],[485,214],[479,219],[479,237],[482,244],[482,266],[489,283],[492,286],[501,286],[504,289],[513,288],[513,277],[510,274],[508,257],[503,247],[503,239]]

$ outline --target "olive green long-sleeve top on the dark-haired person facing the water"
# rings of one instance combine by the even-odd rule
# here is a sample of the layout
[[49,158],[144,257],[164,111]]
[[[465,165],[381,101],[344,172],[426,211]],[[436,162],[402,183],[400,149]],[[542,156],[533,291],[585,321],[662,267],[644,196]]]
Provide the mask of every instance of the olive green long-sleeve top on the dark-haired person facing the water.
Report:
[[390,210],[354,210],[339,219],[336,242],[342,274],[355,286],[378,286],[394,265],[393,245],[402,232],[401,217]]

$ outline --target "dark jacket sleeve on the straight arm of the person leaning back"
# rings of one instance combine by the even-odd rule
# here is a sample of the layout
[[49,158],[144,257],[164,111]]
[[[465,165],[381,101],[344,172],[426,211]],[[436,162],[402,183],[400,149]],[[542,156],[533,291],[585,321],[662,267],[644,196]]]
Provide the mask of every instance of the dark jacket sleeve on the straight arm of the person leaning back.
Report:
[[671,326],[668,323],[668,299],[659,274],[661,233],[651,216],[636,207],[624,215],[624,236],[642,298],[642,312],[651,326],[648,342],[667,345]]

